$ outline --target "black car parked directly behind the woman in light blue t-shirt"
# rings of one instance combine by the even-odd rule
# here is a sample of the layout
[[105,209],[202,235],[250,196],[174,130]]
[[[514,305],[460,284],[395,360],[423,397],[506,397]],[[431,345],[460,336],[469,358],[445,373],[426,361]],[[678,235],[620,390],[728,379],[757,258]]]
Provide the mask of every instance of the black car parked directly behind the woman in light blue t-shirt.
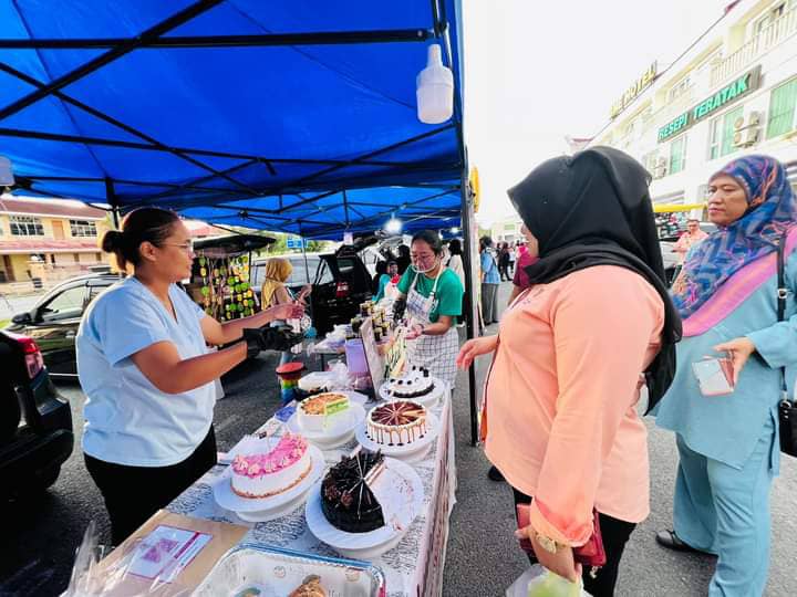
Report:
[[33,338],[51,376],[75,377],[75,336],[83,312],[100,293],[120,280],[118,274],[96,273],[63,282],[31,311],[14,315],[6,329]]

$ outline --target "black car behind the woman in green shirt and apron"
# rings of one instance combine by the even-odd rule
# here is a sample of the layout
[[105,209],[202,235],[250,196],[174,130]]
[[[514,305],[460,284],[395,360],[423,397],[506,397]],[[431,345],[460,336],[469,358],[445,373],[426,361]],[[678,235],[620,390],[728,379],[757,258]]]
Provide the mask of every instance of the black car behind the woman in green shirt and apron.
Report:
[[[360,259],[360,247],[342,245],[334,253],[308,255],[309,280],[312,293],[309,311],[319,335],[331,332],[337,324],[346,324],[360,312],[360,304],[371,298],[371,274]],[[301,290],[308,277],[304,256],[280,255],[293,265],[287,286],[294,293]],[[252,263],[251,284],[259,295],[268,259]],[[314,274],[312,273],[314,271]]]

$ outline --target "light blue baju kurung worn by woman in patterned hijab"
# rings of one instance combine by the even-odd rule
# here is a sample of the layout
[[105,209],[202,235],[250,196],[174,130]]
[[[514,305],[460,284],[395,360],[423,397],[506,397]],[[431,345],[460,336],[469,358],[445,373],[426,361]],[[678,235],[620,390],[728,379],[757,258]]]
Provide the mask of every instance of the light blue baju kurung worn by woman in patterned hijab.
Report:
[[[660,402],[656,425],[676,433],[681,462],[675,485],[675,533],[717,554],[711,597],[757,597],[769,564],[769,488],[778,473],[777,404],[782,373],[797,375],[797,253],[786,261],[786,321],[777,322],[777,275],[725,320],[677,345],[677,373]],[[746,336],[756,353],[736,389],[700,392],[692,363],[716,355],[713,346]]]

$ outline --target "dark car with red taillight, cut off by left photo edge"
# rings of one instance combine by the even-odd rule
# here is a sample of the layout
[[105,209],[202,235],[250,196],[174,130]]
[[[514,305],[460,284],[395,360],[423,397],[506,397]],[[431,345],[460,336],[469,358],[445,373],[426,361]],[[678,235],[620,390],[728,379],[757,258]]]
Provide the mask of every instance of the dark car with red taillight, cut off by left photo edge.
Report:
[[0,499],[52,485],[74,447],[70,405],[53,386],[37,343],[0,331]]

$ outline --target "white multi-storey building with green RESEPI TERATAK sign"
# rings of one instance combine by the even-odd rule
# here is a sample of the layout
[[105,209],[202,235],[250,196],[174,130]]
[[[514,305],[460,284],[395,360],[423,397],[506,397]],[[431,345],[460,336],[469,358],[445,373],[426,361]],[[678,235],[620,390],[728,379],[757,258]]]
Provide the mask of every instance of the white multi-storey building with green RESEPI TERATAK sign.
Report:
[[639,159],[654,203],[703,203],[710,176],[745,154],[778,158],[797,186],[797,0],[729,4],[664,72],[648,66],[610,117],[590,145]]

